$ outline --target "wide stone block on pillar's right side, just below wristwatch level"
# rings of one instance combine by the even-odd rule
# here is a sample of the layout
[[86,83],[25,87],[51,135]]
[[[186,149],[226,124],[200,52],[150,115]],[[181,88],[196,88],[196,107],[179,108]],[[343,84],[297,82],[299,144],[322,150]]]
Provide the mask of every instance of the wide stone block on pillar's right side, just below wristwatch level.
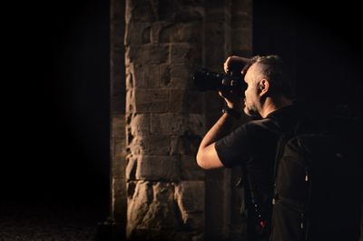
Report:
[[151,133],[161,135],[204,134],[203,115],[152,114]]

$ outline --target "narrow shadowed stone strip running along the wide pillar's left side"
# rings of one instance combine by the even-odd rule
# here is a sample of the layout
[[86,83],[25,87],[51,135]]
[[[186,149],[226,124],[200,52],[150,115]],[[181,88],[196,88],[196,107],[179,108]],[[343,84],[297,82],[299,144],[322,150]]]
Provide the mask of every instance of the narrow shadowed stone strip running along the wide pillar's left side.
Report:
[[[110,217],[108,235],[123,239],[126,226],[126,160],[125,160],[125,70],[124,70],[125,1],[111,1],[110,72],[111,72],[111,140],[110,140]],[[111,220],[110,220],[111,221]],[[115,222],[115,223],[114,223]],[[115,226],[114,226],[115,225]]]

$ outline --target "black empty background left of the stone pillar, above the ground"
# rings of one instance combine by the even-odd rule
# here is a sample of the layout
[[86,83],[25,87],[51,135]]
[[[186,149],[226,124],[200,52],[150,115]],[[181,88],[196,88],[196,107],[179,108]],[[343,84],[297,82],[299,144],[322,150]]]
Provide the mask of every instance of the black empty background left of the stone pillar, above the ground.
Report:
[[19,5],[7,23],[1,199],[107,209],[109,3]]

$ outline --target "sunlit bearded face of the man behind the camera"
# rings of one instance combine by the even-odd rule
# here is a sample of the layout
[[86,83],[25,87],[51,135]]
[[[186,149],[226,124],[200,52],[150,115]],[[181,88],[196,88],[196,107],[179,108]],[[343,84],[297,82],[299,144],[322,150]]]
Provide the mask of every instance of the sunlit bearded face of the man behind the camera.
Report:
[[259,114],[260,106],[260,95],[258,91],[258,81],[257,81],[257,65],[251,65],[247,70],[244,77],[244,81],[247,84],[247,89],[244,92],[244,108],[243,111],[246,115],[256,116]]

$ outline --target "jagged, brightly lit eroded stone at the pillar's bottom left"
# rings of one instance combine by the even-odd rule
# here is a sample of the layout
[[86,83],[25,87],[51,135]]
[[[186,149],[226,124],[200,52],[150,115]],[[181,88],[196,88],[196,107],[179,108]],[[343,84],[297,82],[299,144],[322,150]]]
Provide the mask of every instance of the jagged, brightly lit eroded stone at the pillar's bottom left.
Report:
[[183,231],[186,225],[176,208],[174,184],[137,182],[133,189],[127,224],[130,240],[190,241],[191,236],[198,236],[196,230]]

